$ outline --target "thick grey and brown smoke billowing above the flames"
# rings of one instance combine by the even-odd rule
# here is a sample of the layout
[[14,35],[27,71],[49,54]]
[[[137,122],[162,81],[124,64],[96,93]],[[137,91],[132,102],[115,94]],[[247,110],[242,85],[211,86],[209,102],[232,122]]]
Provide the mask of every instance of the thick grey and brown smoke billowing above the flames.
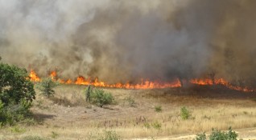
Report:
[[256,1],[0,0],[0,55],[40,75],[256,80]]

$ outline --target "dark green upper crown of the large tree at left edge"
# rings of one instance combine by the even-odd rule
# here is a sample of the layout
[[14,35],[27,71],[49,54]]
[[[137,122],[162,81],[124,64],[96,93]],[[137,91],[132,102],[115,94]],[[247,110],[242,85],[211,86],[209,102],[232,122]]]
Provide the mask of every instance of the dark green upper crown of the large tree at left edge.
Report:
[[19,104],[23,99],[35,99],[34,84],[29,80],[27,70],[0,63],[0,100],[4,106]]

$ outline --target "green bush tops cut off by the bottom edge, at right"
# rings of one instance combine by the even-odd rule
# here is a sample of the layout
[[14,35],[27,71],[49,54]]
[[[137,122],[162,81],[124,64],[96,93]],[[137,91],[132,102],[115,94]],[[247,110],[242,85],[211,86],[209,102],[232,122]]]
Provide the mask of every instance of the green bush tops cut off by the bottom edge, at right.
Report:
[[[221,131],[213,129],[212,134],[209,135],[209,140],[237,140],[238,134],[229,127],[229,131]],[[205,133],[197,134],[196,140],[206,140]]]

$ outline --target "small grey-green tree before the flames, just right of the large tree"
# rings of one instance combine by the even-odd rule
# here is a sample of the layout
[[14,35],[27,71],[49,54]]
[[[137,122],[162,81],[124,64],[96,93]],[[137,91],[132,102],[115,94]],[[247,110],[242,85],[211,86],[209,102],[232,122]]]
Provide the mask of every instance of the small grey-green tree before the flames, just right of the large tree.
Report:
[[58,85],[57,82],[52,81],[52,78],[43,78],[42,82],[39,82],[36,87],[41,91],[41,94],[49,98],[55,94],[53,88]]

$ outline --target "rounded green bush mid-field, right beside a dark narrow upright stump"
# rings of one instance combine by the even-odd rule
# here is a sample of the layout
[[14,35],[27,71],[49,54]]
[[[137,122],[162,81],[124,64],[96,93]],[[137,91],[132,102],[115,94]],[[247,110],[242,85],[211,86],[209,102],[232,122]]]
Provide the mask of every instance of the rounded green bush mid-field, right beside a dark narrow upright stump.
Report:
[[95,89],[91,93],[91,102],[97,104],[97,106],[104,106],[114,102],[114,97],[110,93],[105,93],[104,90]]

